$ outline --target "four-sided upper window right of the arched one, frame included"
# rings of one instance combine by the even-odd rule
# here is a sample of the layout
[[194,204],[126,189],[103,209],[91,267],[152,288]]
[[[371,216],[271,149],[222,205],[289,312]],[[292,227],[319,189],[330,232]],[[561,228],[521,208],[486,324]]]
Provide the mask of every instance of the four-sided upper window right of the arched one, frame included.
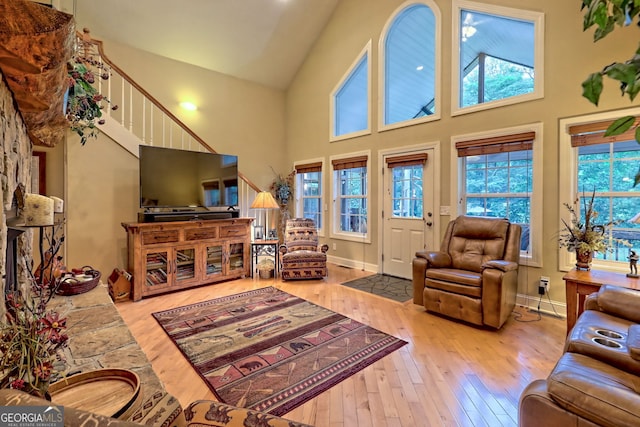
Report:
[[541,97],[543,15],[463,0],[455,4],[454,114]]

